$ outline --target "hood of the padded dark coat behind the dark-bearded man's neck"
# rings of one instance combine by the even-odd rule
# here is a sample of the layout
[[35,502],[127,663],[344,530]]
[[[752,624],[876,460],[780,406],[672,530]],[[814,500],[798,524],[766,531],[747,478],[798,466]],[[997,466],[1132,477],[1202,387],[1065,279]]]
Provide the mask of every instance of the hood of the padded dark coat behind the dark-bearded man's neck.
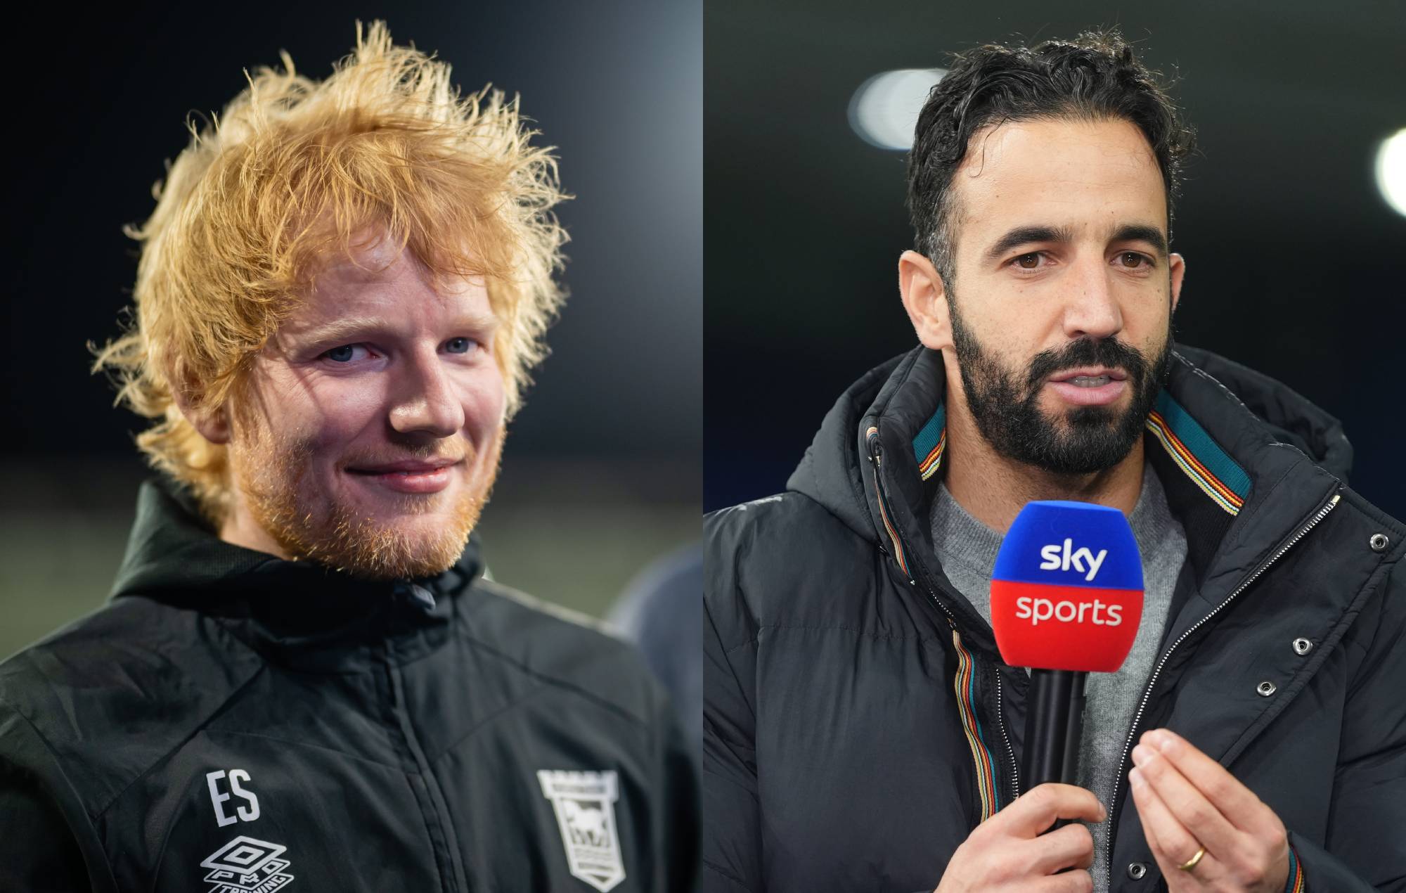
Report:
[[[1229,392],[1233,398],[1230,402],[1249,409],[1263,437],[1295,447],[1313,464],[1347,482],[1353,447],[1343,433],[1341,422],[1333,415],[1282,383],[1209,350],[1175,345],[1174,353],[1184,370],[1197,375],[1201,384]],[[859,426],[875,412],[880,391],[896,384],[890,378],[900,367],[903,373],[920,368],[929,380],[912,381],[910,375],[907,387],[931,391],[927,397],[934,405],[942,402],[945,387],[941,353],[915,347],[893,357],[839,395],[786,484],[787,489],[820,502],[846,526],[873,541],[880,537],[865,492],[862,473],[868,457],[862,456],[863,432]],[[1218,428],[1216,419],[1204,422],[1212,430]],[[1241,426],[1243,420],[1234,419],[1233,425]]]

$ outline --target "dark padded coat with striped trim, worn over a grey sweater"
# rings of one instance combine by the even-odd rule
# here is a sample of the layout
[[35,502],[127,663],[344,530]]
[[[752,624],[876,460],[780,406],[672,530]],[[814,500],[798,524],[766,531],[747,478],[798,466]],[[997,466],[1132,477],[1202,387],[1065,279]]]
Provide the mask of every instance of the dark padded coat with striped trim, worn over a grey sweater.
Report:
[[[932,890],[1021,790],[1028,676],[934,558],[942,395],[935,352],[870,371],[786,494],[706,520],[707,890]],[[1111,889],[1164,886],[1126,773],[1166,726],[1274,809],[1306,889],[1406,890],[1406,527],[1331,416],[1212,354],[1178,349],[1146,444],[1188,558]]]

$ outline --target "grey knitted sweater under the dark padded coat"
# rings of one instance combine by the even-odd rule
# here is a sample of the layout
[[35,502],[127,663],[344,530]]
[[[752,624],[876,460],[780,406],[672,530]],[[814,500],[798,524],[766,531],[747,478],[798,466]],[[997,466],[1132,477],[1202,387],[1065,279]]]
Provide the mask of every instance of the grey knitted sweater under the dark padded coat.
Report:
[[[1001,550],[1001,534],[967,515],[946,485],[932,501],[932,543],[948,579],[973,608],[991,622],[991,571]],[[1114,775],[1123,752],[1123,740],[1132,727],[1137,699],[1152,665],[1157,643],[1167,623],[1171,592],[1187,560],[1187,536],[1167,508],[1152,464],[1143,465],[1142,494],[1128,518],[1143,563],[1143,615],[1133,648],[1118,672],[1091,672],[1085,685],[1084,737],[1078,751],[1078,783],[1088,788],[1108,811],[1112,811]],[[1029,672],[1029,671],[1026,671]],[[1087,824],[1087,823],[1085,823]],[[1094,887],[1104,893],[1108,852],[1104,827],[1090,824],[1094,833]]]

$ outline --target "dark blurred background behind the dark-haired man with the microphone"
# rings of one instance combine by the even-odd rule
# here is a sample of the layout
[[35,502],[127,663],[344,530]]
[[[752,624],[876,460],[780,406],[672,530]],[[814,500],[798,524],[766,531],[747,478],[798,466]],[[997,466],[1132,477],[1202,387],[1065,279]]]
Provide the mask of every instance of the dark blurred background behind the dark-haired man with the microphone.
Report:
[[1406,218],[1372,179],[1378,141],[1406,127],[1395,0],[707,0],[704,508],[783,489],[841,391],[917,343],[897,288],[905,155],[851,129],[856,87],[1098,25],[1180,72],[1198,129],[1173,233],[1178,340],[1339,416],[1350,482],[1406,518]]

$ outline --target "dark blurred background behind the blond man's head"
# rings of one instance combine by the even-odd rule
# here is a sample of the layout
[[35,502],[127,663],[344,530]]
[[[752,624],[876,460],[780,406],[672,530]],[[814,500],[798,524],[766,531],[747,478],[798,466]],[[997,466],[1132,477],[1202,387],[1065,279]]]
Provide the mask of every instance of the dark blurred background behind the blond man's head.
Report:
[[[121,4],[18,23],[10,59],[0,657],[104,598],[145,470],[87,340],[117,335],[136,243],[187,114],[243,69],[326,77],[354,21],[492,82],[558,146],[572,293],[510,428],[482,532],[510,585],[599,613],[697,536],[702,1]],[[20,37],[22,35],[22,37]],[[15,150],[15,148],[18,149]]]

